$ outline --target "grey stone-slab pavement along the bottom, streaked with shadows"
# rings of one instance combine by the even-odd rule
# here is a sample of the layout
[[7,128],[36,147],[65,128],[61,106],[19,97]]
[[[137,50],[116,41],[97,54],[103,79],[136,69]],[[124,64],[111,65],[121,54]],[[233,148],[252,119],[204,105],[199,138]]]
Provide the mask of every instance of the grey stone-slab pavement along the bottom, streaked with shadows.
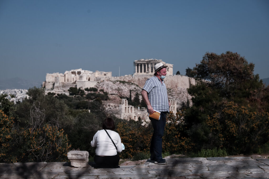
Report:
[[269,178],[269,159],[250,157],[166,158],[167,165],[149,160],[125,162],[117,169],[70,167],[65,162],[0,163],[0,178]]

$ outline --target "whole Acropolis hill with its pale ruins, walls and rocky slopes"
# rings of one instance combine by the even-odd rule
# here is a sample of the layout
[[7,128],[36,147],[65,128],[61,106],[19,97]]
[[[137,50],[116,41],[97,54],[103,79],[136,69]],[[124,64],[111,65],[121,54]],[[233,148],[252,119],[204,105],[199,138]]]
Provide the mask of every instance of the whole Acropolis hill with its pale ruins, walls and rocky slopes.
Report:
[[[70,87],[81,89],[95,87],[98,90],[103,89],[108,92],[110,97],[110,101],[107,101],[107,103],[109,103],[108,105],[120,105],[120,110],[122,110],[123,113],[125,113],[125,111],[128,113],[129,111],[130,115],[128,116],[130,116],[131,119],[137,119],[140,115],[132,114],[134,113],[134,110],[132,110],[133,107],[128,106],[128,102],[121,98],[129,97],[131,90],[132,97],[134,97],[136,93],[139,93],[141,100],[141,90],[145,81],[153,76],[153,66],[160,62],[168,66],[167,77],[164,82],[167,87],[170,103],[172,104],[170,110],[175,113],[176,108],[180,107],[182,102],[186,104],[187,100],[189,100],[190,105],[192,105],[191,96],[187,93],[187,88],[189,88],[190,85],[195,85],[195,79],[188,76],[173,75],[173,64],[168,64],[157,59],[135,60],[135,71],[133,75],[112,76],[112,72],[93,72],[82,69],[65,71],[63,74],[58,72],[47,74],[46,81],[43,82],[43,87],[45,87],[46,93],[54,92],[56,94],[64,93],[66,95],[69,95],[68,89]],[[128,108],[124,110],[121,105],[128,106]]]

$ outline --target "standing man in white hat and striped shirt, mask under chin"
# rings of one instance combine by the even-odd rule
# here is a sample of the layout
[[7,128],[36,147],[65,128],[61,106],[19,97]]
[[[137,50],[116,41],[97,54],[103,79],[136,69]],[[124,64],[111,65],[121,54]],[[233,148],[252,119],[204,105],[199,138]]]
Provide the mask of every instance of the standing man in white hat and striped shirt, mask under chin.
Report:
[[141,92],[142,98],[147,104],[148,112],[150,114],[153,113],[153,110],[161,112],[160,120],[150,118],[154,130],[150,143],[150,160],[159,165],[167,164],[162,158],[162,136],[164,135],[166,113],[169,112],[170,107],[164,84],[167,67],[162,63],[154,65],[154,76],[147,79]]

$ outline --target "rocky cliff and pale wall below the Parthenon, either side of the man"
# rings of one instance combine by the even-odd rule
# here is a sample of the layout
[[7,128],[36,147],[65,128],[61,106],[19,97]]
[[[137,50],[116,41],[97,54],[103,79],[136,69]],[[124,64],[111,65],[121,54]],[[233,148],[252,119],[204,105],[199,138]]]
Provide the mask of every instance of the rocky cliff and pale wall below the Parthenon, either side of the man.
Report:
[[[119,97],[129,97],[130,90],[132,98],[136,93],[139,93],[140,100],[141,90],[150,75],[139,75],[139,76],[118,76],[109,78],[96,78],[97,84],[95,85],[98,89],[104,89],[110,95]],[[190,85],[195,85],[194,78],[190,78],[182,75],[167,76],[164,80],[167,87],[169,99],[176,99],[177,107],[185,104],[189,100],[190,105],[192,105],[191,96],[187,92]]]

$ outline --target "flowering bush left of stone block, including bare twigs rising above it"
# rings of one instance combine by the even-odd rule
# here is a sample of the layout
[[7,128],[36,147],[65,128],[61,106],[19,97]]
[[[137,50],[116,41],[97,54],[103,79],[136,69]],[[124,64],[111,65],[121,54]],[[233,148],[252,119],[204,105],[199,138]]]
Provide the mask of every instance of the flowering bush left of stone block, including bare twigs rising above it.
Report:
[[44,123],[45,114],[40,104],[34,103],[29,126],[19,130],[17,138],[18,160],[21,162],[66,161],[71,145],[63,129]]

